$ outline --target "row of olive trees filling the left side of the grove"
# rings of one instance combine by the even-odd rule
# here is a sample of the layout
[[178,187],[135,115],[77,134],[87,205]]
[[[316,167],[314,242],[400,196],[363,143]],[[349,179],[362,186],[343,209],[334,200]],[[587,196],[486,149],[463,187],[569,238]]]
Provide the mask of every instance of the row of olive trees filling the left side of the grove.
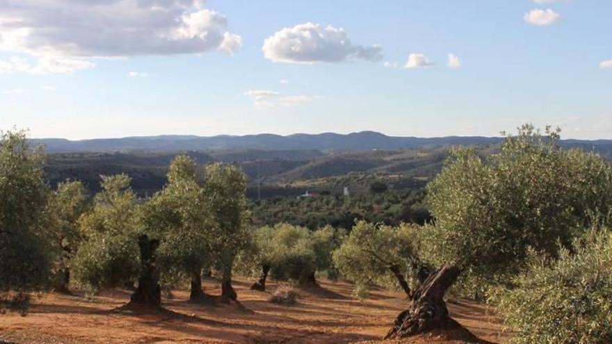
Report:
[[[79,181],[51,190],[45,155],[22,132],[0,140],[0,294],[25,304],[29,292],[68,292],[71,277],[92,291],[138,289],[133,300],[159,304],[160,281],[191,280],[191,298],[204,297],[202,271],[218,272],[222,296],[236,300],[232,268],[250,243],[245,176],[233,165],[204,167],[178,156],[168,183],[137,199],[125,174],[102,176],[90,199]],[[147,283],[148,281],[148,283]]]

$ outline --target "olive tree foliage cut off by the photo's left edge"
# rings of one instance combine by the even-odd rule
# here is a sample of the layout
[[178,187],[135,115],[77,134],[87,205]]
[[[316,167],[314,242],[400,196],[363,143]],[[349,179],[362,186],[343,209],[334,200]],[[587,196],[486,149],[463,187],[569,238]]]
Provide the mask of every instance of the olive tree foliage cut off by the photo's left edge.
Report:
[[26,306],[28,293],[49,281],[44,158],[23,131],[0,133],[0,308]]

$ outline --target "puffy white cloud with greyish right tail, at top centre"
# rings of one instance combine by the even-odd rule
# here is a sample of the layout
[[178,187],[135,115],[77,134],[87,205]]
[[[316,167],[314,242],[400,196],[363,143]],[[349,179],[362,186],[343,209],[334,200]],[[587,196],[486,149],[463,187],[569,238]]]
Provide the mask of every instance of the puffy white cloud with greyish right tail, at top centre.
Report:
[[307,22],[283,28],[264,40],[264,56],[282,63],[339,63],[347,58],[376,61],[382,48],[353,45],[343,28]]

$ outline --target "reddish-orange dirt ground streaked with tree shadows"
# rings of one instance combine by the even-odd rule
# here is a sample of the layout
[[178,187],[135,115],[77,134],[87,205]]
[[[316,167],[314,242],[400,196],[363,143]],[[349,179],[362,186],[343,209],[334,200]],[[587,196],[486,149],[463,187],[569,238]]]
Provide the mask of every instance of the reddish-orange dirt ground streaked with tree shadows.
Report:
[[[168,312],[135,314],[113,311],[129,300],[124,290],[94,299],[58,294],[33,301],[31,312],[0,315],[0,343],[377,343],[401,311],[400,293],[374,290],[369,300],[351,297],[352,286],[321,281],[321,288],[300,290],[295,306],[268,302],[268,293],[235,281],[242,304],[193,304],[188,291],[163,299]],[[268,284],[274,290],[275,284]],[[205,290],[220,293],[214,281]],[[504,342],[494,312],[466,300],[449,302],[451,316],[485,341]],[[437,336],[405,343],[462,343]]]

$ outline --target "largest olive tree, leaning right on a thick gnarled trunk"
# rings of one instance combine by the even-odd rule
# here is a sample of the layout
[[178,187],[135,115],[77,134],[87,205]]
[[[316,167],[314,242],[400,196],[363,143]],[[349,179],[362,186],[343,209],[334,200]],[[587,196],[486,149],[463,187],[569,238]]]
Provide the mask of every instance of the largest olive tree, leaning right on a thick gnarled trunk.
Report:
[[558,131],[540,135],[523,126],[498,154],[481,158],[455,149],[428,185],[434,226],[425,227],[423,252],[439,270],[412,295],[387,338],[456,325],[444,295],[460,277],[507,280],[524,267],[529,247],[555,256],[570,245],[589,214],[612,206],[612,169],[604,158],[563,150]]

